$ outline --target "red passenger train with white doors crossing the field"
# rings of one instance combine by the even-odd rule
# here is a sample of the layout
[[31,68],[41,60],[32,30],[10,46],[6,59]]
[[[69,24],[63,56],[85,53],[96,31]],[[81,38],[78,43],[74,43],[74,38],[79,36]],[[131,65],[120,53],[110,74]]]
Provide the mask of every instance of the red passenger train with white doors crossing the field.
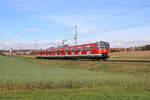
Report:
[[39,50],[36,53],[37,58],[45,59],[104,59],[110,56],[108,42],[96,42],[91,44],[64,46],[61,48],[51,48]]

